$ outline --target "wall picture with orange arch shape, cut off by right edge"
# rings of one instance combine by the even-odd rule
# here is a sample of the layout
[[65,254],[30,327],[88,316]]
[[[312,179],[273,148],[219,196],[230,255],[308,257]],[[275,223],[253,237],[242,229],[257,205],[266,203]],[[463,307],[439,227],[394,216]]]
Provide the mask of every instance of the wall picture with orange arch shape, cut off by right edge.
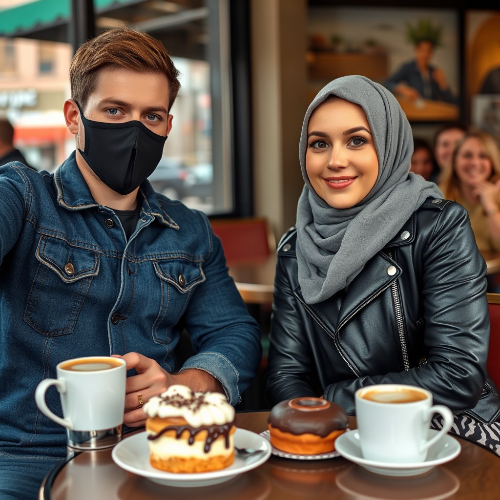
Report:
[[500,141],[500,12],[467,11],[466,95],[470,122]]

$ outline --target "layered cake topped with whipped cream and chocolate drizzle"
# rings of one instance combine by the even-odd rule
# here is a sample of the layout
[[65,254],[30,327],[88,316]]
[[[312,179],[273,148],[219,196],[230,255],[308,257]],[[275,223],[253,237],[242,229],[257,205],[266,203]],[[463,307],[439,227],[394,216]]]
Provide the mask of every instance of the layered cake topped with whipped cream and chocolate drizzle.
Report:
[[234,408],[223,394],[171,385],[142,406],[153,467],[206,472],[234,460]]

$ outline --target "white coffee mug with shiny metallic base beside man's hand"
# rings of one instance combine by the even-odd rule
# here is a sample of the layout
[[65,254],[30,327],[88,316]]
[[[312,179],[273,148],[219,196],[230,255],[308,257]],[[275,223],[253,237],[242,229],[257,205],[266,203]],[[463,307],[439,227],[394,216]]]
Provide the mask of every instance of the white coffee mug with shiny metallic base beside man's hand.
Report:
[[[68,445],[88,449],[115,444],[125,407],[125,361],[111,356],[67,359],[57,364],[56,373],[57,378],[38,383],[35,400],[44,415],[66,427]],[[45,402],[51,385],[60,393],[62,418]]]

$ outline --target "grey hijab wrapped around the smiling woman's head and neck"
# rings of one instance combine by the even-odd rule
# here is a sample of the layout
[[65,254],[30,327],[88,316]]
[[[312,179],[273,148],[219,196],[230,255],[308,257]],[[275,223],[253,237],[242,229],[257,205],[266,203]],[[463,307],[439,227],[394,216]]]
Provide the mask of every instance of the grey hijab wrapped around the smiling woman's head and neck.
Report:
[[[309,117],[330,94],[363,108],[378,156],[374,186],[350,208],[329,206],[316,194],[305,171]],[[395,97],[382,85],[365,76],[342,76],[314,97],[300,135],[305,186],[296,221],[298,282],[307,303],[320,302],[345,288],[427,197],[443,197],[433,182],[408,173],[412,152],[409,122]]]

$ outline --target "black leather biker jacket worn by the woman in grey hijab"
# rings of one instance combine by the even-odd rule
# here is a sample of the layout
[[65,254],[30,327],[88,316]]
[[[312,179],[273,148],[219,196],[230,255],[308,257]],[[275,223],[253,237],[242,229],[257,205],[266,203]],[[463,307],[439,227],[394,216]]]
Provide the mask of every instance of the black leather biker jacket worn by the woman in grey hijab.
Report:
[[486,266],[465,209],[427,199],[346,290],[307,304],[296,232],[278,245],[267,369],[271,404],[320,395],[354,414],[375,383],[424,387],[435,404],[484,422],[500,414],[486,373]]

